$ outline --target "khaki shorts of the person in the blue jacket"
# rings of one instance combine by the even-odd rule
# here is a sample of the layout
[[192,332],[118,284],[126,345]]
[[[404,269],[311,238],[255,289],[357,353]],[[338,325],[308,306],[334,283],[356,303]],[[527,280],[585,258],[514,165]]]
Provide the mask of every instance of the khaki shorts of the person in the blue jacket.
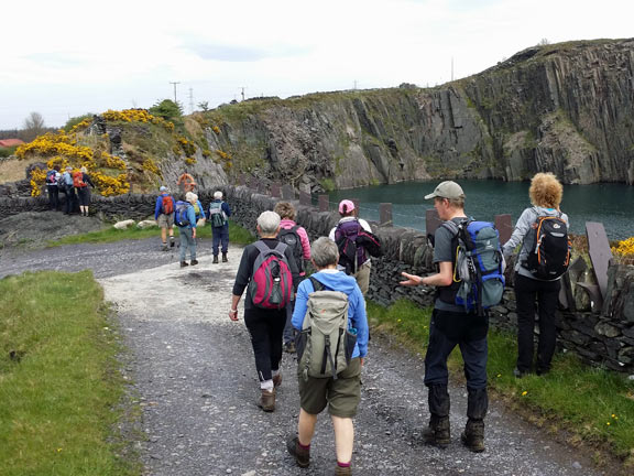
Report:
[[346,370],[332,378],[313,378],[299,380],[299,404],[304,411],[318,414],[328,405],[328,413],[334,416],[352,418],[361,400],[361,361],[359,357],[350,360]]

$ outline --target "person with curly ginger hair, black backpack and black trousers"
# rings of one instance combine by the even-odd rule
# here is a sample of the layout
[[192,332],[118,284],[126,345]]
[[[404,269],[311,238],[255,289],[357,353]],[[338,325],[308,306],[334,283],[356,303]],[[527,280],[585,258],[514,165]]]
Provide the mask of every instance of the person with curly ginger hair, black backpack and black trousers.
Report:
[[[535,313],[539,314],[539,337],[537,344],[537,360],[535,371],[537,375],[550,370],[550,363],[555,354],[557,329],[555,327],[555,312],[561,289],[560,271],[553,271],[553,275],[538,275],[538,270],[531,271],[528,261],[531,251],[536,247],[536,232],[538,219],[548,218],[556,227],[566,231],[561,237],[562,244],[559,250],[549,250],[549,263],[555,263],[555,252],[562,253],[557,262],[567,268],[569,260],[569,242],[567,230],[569,228],[568,216],[561,213],[559,204],[564,195],[561,183],[551,173],[538,173],[531,181],[528,190],[531,203],[534,205],[522,212],[511,239],[504,245],[504,256],[510,257],[517,245],[522,245],[515,263],[515,302],[517,305],[517,365],[513,374],[517,378],[533,371],[534,338],[535,338]],[[546,246],[546,240],[542,241]],[[544,250],[543,250],[544,251]],[[546,251],[544,251],[546,253]],[[537,306],[535,305],[537,302]]]

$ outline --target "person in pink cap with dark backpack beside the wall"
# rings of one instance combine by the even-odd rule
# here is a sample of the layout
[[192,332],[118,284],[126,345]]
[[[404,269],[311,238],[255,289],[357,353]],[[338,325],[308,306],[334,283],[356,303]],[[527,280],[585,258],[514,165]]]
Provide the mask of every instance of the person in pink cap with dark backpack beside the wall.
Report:
[[365,249],[360,246],[357,248],[357,259],[352,260],[354,262],[346,263],[342,261],[341,244],[345,242],[345,237],[349,237],[354,240],[360,229],[372,232],[370,224],[362,218],[358,218],[357,207],[354,203],[349,199],[343,199],[339,203],[339,215],[341,219],[335,228],[330,230],[328,237],[339,246],[339,269],[346,270],[348,274],[351,274],[357,280],[359,288],[363,295],[368,293],[368,286],[370,285],[370,271],[372,262],[370,257],[365,252]]

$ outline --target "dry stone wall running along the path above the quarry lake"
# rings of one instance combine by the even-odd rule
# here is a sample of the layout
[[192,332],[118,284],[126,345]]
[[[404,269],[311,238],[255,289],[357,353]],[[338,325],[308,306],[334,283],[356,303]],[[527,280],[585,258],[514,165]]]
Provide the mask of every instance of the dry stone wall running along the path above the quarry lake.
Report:
[[[245,186],[220,187],[233,212],[233,219],[244,228],[255,231],[258,216],[273,209],[278,198],[253,192]],[[211,191],[200,192],[204,206],[212,199]],[[144,219],[154,214],[155,195],[122,195],[95,197],[91,209],[108,219]],[[306,228],[310,240],[327,236],[338,221],[335,212],[317,212],[310,206],[294,202],[297,223]],[[21,212],[45,212],[47,201],[36,198],[0,197],[0,216]],[[409,228],[379,227],[372,224],[380,236],[385,253],[373,259],[368,298],[383,305],[400,299],[408,299],[420,306],[434,302],[434,291],[428,288],[404,288],[398,285],[401,272],[416,274],[433,272],[431,249],[425,234]],[[609,271],[608,302],[602,312],[559,311],[557,315],[558,342],[560,347],[579,355],[584,361],[601,365],[612,370],[634,374],[634,267],[612,266]],[[515,333],[517,314],[512,289],[504,293],[502,303],[491,310],[493,326]]]

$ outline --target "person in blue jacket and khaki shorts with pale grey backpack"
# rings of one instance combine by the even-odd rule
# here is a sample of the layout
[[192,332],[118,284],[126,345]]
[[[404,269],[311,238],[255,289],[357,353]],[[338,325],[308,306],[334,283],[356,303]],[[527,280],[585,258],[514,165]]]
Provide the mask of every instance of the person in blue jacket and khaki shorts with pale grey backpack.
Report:
[[[323,286],[321,290],[343,293],[345,306],[342,307],[342,312],[346,313],[347,304],[347,328],[352,335],[354,333],[357,334],[357,342],[354,343],[350,364],[343,370],[337,372],[336,378],[332,376],[326,378],[311,377],[309,374],[310,370],[306,369],[305,360],[303,359],[304,355],[299,357],[297,379],[299,383],[300,409],[297,422],[297,435],[288,439],[286,447],[295,457],[298,466],[307,467],[310,463],[310,442],[315,433],[317,414],[321,413],[321,411],[328,407],[328,413],[330,413],[332,428],[335,429],[335,447],[337,453],[335,474],[351,475],[350,462],[352,459],[352,447],[354,443],[352,418],[357,414],[357,408],[361,400],[361,368],[363,367],[363,359],[368,354],[365,304],[357,281],[337,269],[339,251],[337,245],[331,239],[321,237],[313,242],[311,261],[317,272],[299,284],[295,312],[293,313],[293,326],[297,332],[300,332],[309,324],[307,323],[305,325],[304,322],[309,318],[307,313],[310,313],[313,309],[314,303],[311,300],[318,294],[315,293],[318,289],[316,289],[316,283],[313,281],[316,280],[317,284]],[[332,298],[328,296],[327,299]],[[314,325],[313,327],[316,326]],[[335,329],[335,332],[338,331],[338,328]],[[341,343],[339,342],[339,344]],[[317,349],[314,343],[311,343],[311,345],[314,345],[316,349],[311,354],[310,360],[316,358],[315,354],[324,357],[321,349]],[[339,348],[339,346],[334,347]],[[300,351],[302,349],[298,349],[298,354]],[[304,353],[308,351],[310,351],[309,347],[306,346]],[[339,360],[337,359],[336,361]],[[320,363],[316,364],[318,367],[321,366]]]

